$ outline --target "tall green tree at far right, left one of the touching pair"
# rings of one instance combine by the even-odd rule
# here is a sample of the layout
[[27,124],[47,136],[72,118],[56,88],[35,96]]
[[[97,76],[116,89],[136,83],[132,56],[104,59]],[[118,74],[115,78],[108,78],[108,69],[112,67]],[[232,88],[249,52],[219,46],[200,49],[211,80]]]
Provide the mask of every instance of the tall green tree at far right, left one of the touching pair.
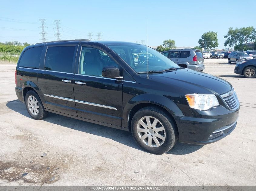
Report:
[[224,42],[224,46],[236,46],[238,42],[241,42],[240,29],[233,29],[232,27],[228,28],[228,34],[224,35],[224,38],[227,39]]

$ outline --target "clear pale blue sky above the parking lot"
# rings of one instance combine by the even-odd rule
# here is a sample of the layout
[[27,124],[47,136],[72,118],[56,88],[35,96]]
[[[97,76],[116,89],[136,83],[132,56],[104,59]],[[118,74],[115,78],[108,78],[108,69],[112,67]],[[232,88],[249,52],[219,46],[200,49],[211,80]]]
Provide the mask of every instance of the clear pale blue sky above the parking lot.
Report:
[[147,40],[158,46],[175,40],[176,46],[197,46],[207,31],[218,32],[218,48],[224,48],[229,27],[256,27],[256,1],[171,1],[171,0],[62,0],[1,1],[0,42],[41,42],[38,19],[45,18],[48,41],[55,40],[53,19],[62,19],[61,40],[97,38],[135,42]]

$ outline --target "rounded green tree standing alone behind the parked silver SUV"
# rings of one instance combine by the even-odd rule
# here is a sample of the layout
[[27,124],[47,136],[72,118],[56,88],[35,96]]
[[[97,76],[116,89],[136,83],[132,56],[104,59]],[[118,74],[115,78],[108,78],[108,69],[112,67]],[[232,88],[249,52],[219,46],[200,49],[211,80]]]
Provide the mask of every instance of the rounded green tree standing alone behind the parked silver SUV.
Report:
[[202,37],[198,40],[198,44],[202,48],[216,48],[219,46],[218,38],[217,38],[217,32],[208,31],[207,33],[204,33]]

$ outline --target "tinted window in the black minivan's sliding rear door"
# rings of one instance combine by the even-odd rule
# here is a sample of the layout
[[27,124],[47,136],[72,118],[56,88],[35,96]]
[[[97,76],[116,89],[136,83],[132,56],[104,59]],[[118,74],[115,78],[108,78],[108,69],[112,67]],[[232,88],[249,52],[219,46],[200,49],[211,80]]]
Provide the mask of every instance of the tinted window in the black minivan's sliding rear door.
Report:
[[75,46],[48,47],[45,56],[45,70],[72,72]]

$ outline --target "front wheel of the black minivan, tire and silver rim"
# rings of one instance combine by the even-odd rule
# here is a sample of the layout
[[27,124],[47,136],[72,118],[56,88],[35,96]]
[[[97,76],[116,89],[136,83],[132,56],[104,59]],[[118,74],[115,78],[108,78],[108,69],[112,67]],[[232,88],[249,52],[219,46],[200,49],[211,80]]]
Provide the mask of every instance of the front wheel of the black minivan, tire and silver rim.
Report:
[[[154,123],[156,119],[157,123]],[[151,123],[149,126],[147,121]],[[157,128],[161,129],[157,131]],[[157,107],[145,107],[135,113],[131,120],[131,134],[140,148],[153,154],[168,152],[178,141],[175,122]]]

